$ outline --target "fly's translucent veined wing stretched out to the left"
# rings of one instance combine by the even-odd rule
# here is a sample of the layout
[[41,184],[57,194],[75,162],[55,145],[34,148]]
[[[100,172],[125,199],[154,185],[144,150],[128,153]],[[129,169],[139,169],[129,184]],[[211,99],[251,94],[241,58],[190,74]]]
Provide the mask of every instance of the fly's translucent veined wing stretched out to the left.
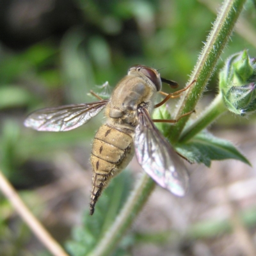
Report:
[[37,131],[70,131],[97,115],[108,100],[100,100],[88,104],[73,104],[57,108],[44,108],[31,113],[24,125]]

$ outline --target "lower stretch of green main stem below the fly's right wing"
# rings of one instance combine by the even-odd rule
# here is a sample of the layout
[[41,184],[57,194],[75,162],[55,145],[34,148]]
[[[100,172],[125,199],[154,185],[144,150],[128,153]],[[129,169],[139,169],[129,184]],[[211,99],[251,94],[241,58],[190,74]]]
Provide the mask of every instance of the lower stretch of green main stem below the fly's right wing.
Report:
[[132,221],[134,221],[138,212],[147,202],[150,193],[155,188],[155,184],[147,173],[143,173],[113,226],[109,228],[89,256],[105,256],[115,250],[116,244],[122,239],[125,231],[131,226]]

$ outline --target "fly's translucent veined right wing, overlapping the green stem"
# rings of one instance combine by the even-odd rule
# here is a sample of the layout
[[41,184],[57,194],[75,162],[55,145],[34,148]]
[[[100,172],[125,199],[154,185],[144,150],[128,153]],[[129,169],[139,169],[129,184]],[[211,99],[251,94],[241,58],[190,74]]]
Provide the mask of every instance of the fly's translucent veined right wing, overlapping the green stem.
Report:
[[138,109],[135,152],[141,167],[161,187],[183,196],[188,188],[188,172],[170,143],[152,122],[147,109]]

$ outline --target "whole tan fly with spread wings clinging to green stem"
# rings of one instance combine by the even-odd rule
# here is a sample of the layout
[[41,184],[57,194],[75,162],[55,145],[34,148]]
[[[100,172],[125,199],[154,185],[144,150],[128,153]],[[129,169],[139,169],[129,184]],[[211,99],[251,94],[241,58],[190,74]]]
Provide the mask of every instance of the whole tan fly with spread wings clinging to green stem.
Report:
[[[154,122],[175,123],[177,120],[152,120],[150,115],[168,99],[179,97],[188,86],[168,94],[161,92],[162,83],[170,84],[172,88],[178,86],[176,82],[162,78],[156,69],[136,65],[129,68],[127,76],[116,85],[108,100],[96,95],[97,102],[40,109],[26,118],[24,125],[37,131],[70,131],[105,109],[106,122],[95,134],[90,158],[93,169],[90,215],[109,180],[127,166],[134,153],[143,170],[157,184],[177,196],[186,193],[188,172],[154,125]],[[157,92],[165,98],[154,105]],[[192,111],[185,115],[190,113]]]

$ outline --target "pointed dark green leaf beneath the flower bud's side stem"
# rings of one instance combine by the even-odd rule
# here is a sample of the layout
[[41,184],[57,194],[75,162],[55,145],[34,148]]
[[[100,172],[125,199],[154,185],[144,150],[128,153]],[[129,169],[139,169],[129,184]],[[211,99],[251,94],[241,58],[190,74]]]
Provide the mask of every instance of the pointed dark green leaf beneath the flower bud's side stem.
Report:
[[216,138],[207,131],[200,132],[187,143],[178,143],[175,150],[191,163],[204,163],[208,167],[212,160],[224,159],[237,159],[251,165],[232,143]]

